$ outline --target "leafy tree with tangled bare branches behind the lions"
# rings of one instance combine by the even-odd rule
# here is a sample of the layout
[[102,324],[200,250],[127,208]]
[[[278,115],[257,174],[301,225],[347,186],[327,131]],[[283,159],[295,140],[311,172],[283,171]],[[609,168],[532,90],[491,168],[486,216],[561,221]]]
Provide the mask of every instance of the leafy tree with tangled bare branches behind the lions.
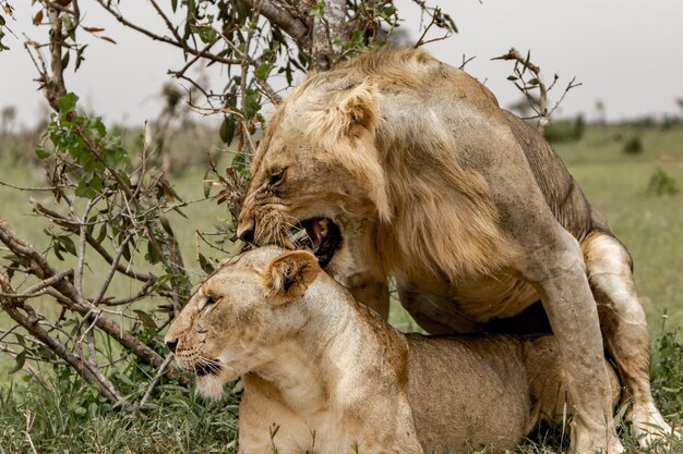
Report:
[[[79,109],[77,96],[69,91],[68,72],[77,71],[88,51],[79,37],[89,34],[115,41],[97,24],[88,23],[81,3],[34,2],[38,8],[33,22],[47,33],[43,39],[24,44],[52,109],[36,147],[49,184],[31,189],[51,194],[56,208],[33,201],[34,212],[52,225],[45,231],[47,250],[31,245],[0,219],[0,242],[7,247],[0,262],[0,305],[14,321],[9,329],[0,329],[0,347],[15,358],[15,370],[37,373],[29,361],[65,366],[111,404],[139,409],[159,380],[184,380],[170,365],[171,356],[158,333],[190,294],[172,229],[172,216],[187,204],[164,171],[151,164],[160,152],[160,140],[147,144],[143,139],[139,149],[125,149],[98,116]],[[184,56],[182,68],[169,74],[188,86],[193,110],[223,116],[220,136],[237,148],[231,168],[221,175],[216,172],[213,181],[220,187],[214,197],[233,216],[239,212],[247,164],[263,128],[264,112],[281,101],[279,91],[291,86],[297,72],[323,71],[383,46],[399,26],[392,1],[136,1],[136,8],[156,12],[166,28],[165,34],[157,34],[122,14],[122,1],[94,3],[124,26],[173,46]],[[428,41],[426,34],[432,28],[443,36],[455,32],[451,17],[439,8],[415,3],[429,19],[418,44]],[[4,32],[10,30],[13,10],[5,0],[0,0],[0,50],[7,50]],[[189,70],[200,62],[224,65],[227,85],[214,89],[190,76]],[[276,76],[284,77],[284,87],[275,88]],[[168,134],[181,95],[167,85],[166,110],[155,125],[161,131],[157,137]],[[145,131],[143,138],[147,135]],[[206,197],[215,185],[208,181]],[[211,272],[212,260],[203,255],[199,259]],[[89,266],[105,272],[86,280]],[[132,293],[111,295],[115,279],[129,281]],[[45,306],[35,304],[38,298],[59,310],[45,311]],[[141,306],[141,300],[154,300],[155,306]],[[115,349],[109,347],[112,342],[118,344]],[[121,370],[136,381],[131,384]]]

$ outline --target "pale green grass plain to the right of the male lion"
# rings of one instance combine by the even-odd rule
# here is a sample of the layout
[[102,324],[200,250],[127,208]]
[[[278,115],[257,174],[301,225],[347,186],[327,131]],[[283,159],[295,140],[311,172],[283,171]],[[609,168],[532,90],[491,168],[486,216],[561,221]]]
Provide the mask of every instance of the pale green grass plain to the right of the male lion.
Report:
[[[644,150],[623,152],[616,134],[639,134]],[[683,128],[644,132],[591,128],[584,140],[556,147],[590,203],[608,219],[635,263],[636,285],[650,324],[664,311],[671,326],[683,322],[683,192],[647,194],[660,168],[683,189]]]

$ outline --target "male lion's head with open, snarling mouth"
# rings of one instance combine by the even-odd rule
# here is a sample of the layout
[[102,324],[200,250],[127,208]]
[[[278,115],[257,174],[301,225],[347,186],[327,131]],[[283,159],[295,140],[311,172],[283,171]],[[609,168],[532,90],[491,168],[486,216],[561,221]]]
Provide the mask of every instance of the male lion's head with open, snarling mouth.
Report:
[[345,221],[390,216],[375,147],[381,95],[354,78],[313,75],[278,108],[251,165],[242,240],[289,247],[288,233],[304,228],[325,267]]

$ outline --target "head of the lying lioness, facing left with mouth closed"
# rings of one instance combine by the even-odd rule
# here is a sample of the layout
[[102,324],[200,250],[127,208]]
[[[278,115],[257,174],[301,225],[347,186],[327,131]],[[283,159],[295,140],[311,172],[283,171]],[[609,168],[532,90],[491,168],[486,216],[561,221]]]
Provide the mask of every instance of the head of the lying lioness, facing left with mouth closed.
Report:
[[227,381],[273,359],[267,347],[305,324],[299,305],[319,270],[308,251],[269,246],[227,260],[199,285],[165,342],[196,372],[200,393],[217,397]]

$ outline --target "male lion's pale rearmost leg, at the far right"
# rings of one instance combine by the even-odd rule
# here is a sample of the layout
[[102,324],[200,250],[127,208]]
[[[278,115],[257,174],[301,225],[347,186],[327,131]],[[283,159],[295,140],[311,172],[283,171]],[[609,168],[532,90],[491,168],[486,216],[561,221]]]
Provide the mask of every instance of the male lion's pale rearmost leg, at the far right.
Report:
[[626,417],[645,446],[662,433],[671,433],[671,428],[655,406],[650,393],[649,336],[633,282],[631,257],[616,238],[601,232],[591,232],[582,249],[598,304],[604,344],[631,398]]

